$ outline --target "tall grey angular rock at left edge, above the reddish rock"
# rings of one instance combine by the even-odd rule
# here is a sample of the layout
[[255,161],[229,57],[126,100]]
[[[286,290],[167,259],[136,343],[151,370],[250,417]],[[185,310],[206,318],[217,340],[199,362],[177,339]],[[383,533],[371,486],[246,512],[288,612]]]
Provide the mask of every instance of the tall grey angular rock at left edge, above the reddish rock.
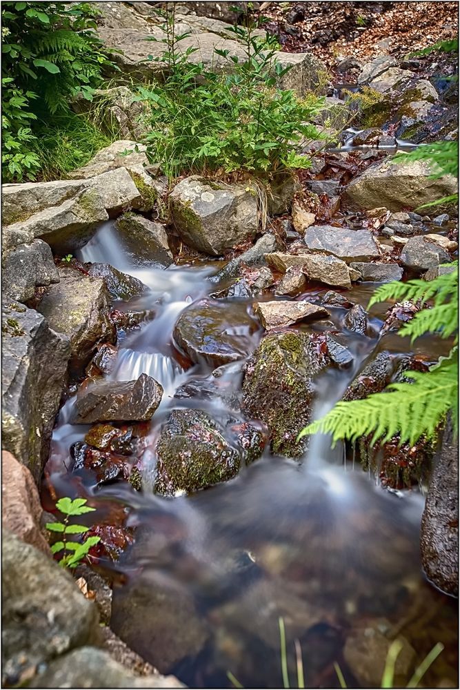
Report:
[[2,446],[39,482],[70,357],[66,335],[33,309],[2,312]]

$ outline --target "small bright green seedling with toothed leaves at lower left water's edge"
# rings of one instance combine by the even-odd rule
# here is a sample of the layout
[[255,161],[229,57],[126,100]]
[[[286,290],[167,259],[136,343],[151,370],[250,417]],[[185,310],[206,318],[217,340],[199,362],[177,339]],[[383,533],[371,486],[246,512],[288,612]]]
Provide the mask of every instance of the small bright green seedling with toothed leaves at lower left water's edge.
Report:
[[54,542],[51,546],[52,553],[60,553],[61,551],[68,551],[69,553],[64,553],[63,557],[59,561],[59,565],[67,568],[76,568],[77,565],[88,556],[88,552],[91,547],[100,541],[100,537],[88,537],[83,544],[80,542],[74,542],[68,540],[68,535],[70,534],[84,534],[89,531],[89,527],[82,524],[69,524],[70,517],[76,517],[77,515],[84,515],[85,513],[92,513],[94,508],[86,505],[86,498],[76,498],[72,499],[65,497],[59,499],[56,507],[63,515],[63,522],[47,522],[46,529],[50,532],[58,532],[62,535],[62,539],[58,542]]

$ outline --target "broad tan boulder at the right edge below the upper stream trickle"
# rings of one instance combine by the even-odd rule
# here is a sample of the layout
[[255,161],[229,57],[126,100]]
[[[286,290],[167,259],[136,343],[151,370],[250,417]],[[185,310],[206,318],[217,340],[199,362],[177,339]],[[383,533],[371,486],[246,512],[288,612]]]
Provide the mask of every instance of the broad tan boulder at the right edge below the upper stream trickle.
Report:
[[445,175],[431,179],[424,161],[400,164],[383,159],[367,168],[347,186],[345,197],[354,208],[385,206],[391,211],[418,208],[457,193],[457,179]]

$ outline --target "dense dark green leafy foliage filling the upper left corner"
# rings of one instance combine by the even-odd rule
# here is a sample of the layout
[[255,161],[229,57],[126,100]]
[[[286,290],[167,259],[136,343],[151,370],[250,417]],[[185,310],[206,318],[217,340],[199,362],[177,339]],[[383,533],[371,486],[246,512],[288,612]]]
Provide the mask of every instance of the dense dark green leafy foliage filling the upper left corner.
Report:
[[3,2],[2,174],[5,181],[35,179],[39,120],[52,125],[57,112],[81,93],[92,99],[108,61],[95,34],[91,3]]

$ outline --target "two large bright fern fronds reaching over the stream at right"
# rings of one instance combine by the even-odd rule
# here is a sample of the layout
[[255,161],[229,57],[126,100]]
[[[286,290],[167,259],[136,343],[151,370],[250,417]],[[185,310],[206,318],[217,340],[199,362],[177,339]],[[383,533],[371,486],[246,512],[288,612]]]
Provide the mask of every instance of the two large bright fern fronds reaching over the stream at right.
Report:
[[[414,340],[424,333],[437,333],[450,337],[458,324],[458,268],[425,282],[393,282],[381,286],[370,301],[412,299],[425,308],[412,321],[404,324],[400,335]],[[432,299],[432,308],[427,302]],[[457,340],[457,339],[456,339]],[[373,433],[371,444],[385,443],[399,435],[399,443],[414,444],[422,435],[434,437],[437,427],[446,415],[452,413],[457,430],[458,423],[458,352],[452,348],[448,357],[428,372],[410,371],[410,381],[393,383],[382,393],[374,393],[364,400],[338,402],[332,410],[301,431],[299,438],[314,433],[332,433],[332,442],[348,438],[357,440]]]

